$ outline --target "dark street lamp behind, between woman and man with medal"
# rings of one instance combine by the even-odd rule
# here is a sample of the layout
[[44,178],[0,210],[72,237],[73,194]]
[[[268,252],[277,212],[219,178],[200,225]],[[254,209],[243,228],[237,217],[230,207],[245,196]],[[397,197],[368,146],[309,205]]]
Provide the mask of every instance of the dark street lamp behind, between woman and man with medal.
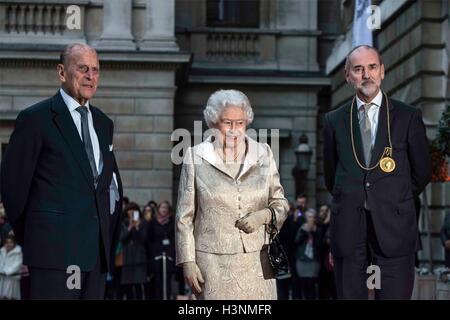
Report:
[[305,193],[306,176],[311,165],[312,149],[308,144],[308,137],[303,133],[299,139],[299,145],[295,150],[296,163],[292,169],[295,179],[295,196]]

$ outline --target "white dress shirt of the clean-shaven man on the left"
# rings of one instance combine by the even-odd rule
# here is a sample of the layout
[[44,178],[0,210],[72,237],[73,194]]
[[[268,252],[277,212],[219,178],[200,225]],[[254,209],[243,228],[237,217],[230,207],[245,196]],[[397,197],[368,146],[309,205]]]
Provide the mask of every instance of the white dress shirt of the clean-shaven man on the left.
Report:
[[[77,127],[78,134],[80,135],[80,139],[83,141],[83,134],[81,132],[81,114],[76,110],[76,108],[80,107],[81,105],[71,96],[69,96],[62,88],[59,89],[59,92],[61,93],[61,96],[66,103],[67,108],[69,108],[70,115],[72,116],[73,122],[75,123],[75,126]],[[97,172],[100,174],[100,146],[98,144],[98,137],[97,133],[94,129],[94,120],[92,119],[92,113],[89,108],[89,101],[86,102],[85,106],[88,109],[88,124],[89,124],[89,134],[91,136],[92,141],[92,148],[94,149],[94,159],[95,159],[95,165],[97,167]]]

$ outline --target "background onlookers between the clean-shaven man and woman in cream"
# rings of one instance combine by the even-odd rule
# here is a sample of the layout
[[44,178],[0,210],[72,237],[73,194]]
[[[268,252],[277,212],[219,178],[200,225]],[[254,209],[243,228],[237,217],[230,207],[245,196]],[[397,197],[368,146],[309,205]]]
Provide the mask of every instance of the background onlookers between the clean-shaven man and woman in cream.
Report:
[[[175,266],[175,228],[168,201],[149,201],[141,210],[124,198],[115,268],[108,275],[107,299],[174,299],[184,295],[182,269]],[[176,287],[173,292],[172,287]]]

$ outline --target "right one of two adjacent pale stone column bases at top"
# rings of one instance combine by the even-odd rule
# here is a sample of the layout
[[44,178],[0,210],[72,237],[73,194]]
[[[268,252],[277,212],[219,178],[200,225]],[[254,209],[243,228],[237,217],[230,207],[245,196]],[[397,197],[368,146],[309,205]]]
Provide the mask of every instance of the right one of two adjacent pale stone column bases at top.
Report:
[[175,0],[147,0],[141,50],[178,51],[175,39]]

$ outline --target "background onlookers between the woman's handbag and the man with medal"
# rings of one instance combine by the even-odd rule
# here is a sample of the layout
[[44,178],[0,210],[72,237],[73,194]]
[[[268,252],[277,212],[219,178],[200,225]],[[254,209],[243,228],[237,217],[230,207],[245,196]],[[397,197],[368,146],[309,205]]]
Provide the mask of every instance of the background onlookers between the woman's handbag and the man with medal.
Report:
[[277,280],[278,299],[336,299],[330,254],[330,207],[308,207],[306,195],[290,204],[289,216],[280,231],[288,255],[291,277]]

